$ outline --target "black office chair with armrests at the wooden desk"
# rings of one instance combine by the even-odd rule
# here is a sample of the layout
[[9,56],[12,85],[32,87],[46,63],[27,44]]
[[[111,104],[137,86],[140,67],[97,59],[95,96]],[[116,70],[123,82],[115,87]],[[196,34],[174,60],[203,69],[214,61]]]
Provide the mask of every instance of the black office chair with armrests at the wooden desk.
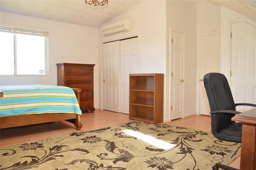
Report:
[[[219,140],[241,142],[242,123],[231,121],[231,118],[241,112],[236,106],[254,106],[256,104],[234,103],[228,80],[221,73],[208,73],[204,76],[204,87],[210,104],[212,134]],[[213,170],[237,170],[222,164],[216,164]]]

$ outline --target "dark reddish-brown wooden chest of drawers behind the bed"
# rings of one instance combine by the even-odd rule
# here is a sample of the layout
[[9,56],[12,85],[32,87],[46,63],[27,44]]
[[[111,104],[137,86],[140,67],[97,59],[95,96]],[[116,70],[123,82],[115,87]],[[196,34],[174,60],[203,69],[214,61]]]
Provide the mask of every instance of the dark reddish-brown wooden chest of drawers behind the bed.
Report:
[[93,68],[95,64],[58,63],[58,86],[80,88],[80,109],[94,112]]

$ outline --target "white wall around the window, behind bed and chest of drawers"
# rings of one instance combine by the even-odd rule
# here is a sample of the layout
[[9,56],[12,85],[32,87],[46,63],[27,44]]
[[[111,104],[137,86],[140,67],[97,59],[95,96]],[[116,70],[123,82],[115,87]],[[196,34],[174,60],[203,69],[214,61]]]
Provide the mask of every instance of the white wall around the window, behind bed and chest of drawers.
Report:
[[[0,85],[57,85],[56,63],[96,64],[94,67],[94,107],[98,108],[98,29],[44,20],[28,16],[0,13],[1,25],[49,32],[48,76],[1,76]],[[95,38],[96,37],[96,38]]]

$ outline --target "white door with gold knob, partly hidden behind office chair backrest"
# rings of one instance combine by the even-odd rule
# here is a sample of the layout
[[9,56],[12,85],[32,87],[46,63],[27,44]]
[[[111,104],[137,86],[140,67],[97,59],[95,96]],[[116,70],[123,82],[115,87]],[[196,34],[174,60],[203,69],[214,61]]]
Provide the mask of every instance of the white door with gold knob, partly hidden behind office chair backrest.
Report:
[[204,88],[204,75],[220,72],[220,34],[200,36],[200,110],[199,114],[210,115],[210,105]]

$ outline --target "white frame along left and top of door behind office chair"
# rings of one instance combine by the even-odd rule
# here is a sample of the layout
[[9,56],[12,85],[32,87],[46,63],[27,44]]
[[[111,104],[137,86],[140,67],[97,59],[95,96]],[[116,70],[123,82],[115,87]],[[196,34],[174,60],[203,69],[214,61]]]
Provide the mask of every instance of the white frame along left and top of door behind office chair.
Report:
[[220,34],[220,31],[206,32],[197,35],[196,41],[196,114],[200,111],[200,38],[202,36],[210,36]]

